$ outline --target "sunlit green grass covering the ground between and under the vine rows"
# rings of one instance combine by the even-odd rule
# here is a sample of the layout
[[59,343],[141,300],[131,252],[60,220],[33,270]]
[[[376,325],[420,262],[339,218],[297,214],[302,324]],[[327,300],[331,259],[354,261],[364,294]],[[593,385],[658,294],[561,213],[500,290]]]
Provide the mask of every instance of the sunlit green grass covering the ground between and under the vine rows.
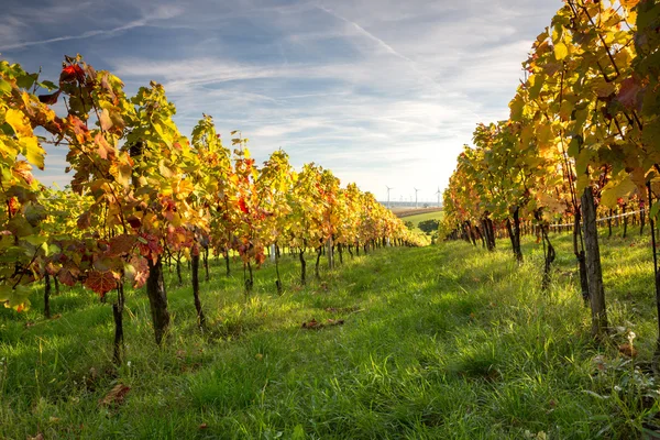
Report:
[[[603,239],[615,330],[601,345],[570,235],[552,240],[547,293],[529,239],[521,266],[504,240],[492,254],[464,242],[382,249],[344,255],[307,287],[285,257],[284,295],[266,265],[248,300],[239,267],[224,277],[213,262],[205,334],[190,289],[170,287],[174,326],[157,349],[145,295],[129,293],[119,369],[109,305],[65,289],[52,300],[62,317],[44,320],[35,294],[26,314],[0,310],[0,438],[639,438],[659,411],[644,373],[657,336],[648,239]],[[344,323],[301,328],[311,319]],[[635,364],[617,350],[628,330]],[[100,405],[118,383],[125,402]]]

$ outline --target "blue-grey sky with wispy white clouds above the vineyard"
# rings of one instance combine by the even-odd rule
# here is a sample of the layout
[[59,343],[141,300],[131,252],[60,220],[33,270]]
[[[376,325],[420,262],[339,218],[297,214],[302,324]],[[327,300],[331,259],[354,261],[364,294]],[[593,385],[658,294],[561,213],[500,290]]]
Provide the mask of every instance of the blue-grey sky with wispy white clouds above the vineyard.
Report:
[[[9,1],[9,4],[8,4]],[[508,117],[560,0],[4,0],[0,58],[56,81],[64,55],[129,95],[156,80],[189,135],[211,114],[257,162],[282,147],[378,200],[437,200],[477,123]],[[46,146],[46,185],[66,148]]]

